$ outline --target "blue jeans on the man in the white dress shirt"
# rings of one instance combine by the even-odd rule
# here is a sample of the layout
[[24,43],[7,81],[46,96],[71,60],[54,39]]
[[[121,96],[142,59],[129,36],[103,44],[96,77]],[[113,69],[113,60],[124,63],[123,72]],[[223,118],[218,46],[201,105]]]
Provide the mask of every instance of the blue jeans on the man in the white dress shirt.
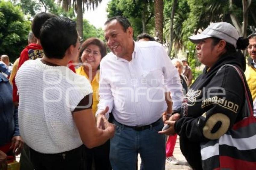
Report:
[[142,131],[124,126],[113,120],[115,135],[110,141],[110,162],[113,170],[135,170],[138,153],[144,170],[165,169],[165,136],[158,134],[164,126],[158,120],[157,126]]

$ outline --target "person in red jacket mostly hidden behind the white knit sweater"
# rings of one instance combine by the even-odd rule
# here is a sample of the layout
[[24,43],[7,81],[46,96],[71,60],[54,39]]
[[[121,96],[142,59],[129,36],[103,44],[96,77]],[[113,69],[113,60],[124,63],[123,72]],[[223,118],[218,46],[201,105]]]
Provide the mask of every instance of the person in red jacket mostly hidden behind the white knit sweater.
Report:
[[[32,29],[34,36],[37,38],[37,43],[29,44],[20,53],[20,61],[19,61],[18,69],[27,60],[30,60],[30,59],[34,60],[34,59],[43,57],[44,52],[43,52],[43,49],[41,46],[39,32],[40,32],[40,28],[42,27],[43,23],[45,23],[46,20],[48,20],[49,18],[52,18],[52,17],[56,17],[56,15],[51,14],[51,13],[46,13],[46,12],[40,12],[40,13],[36,14],[36,16],[34,17],[34,19],[32,21],[31,29]],[[73,72],[76,72],[74,65],[72,64],[72,61],[69,62],[69,68]],[[18,102],[19,102],[19,96],[17,94],[17,86],[15,83],[15,77],[12,80],[12,83],[13,83],[13,102],[14,102],[14,105],[17,106]]]

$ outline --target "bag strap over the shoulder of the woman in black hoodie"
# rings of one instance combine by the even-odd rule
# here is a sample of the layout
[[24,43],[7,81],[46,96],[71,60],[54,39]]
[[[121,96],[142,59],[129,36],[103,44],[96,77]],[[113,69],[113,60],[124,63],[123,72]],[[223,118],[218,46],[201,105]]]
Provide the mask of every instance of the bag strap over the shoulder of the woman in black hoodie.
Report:
[[239,68],[237,68],[236,66],[234,65],[231,65],[231,64],[225,64],[225,65],[222,65],[219,70],[217,71],[216,75],[219,73],[219,71],[221,70],[221,68],[225,67],[225,66],[231,66],[233,68],[235,68],[236,72],[239,74],[239,77],[242,79],[242,82],[244,84],[244,89],[245,89],[245,97],[246,97],[246,100],[245,100],[245,104],[246,104],[246,110],[247,110],[247,116],[253,116],[253,110],[252,110],[252,107],[251,107],[251,102],[250,102],[250,99],[249,99],[249,96],[248,96],[248,91],[247,91],[247,88],[245,86],[245,80],[244,80],[244,77],[241,73],[241,71],[239,70]]

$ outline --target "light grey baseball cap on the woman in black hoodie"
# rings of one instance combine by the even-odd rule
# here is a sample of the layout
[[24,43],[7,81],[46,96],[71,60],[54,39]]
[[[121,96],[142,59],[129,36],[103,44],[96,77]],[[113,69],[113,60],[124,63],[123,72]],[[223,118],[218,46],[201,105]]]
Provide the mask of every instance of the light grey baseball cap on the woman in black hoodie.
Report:
[[216,37],[234,45],[239,38],[239,33],[234,26],[226,22],[212,23],[201,34],[192,35],[189,40],[198,44],[202,39]]

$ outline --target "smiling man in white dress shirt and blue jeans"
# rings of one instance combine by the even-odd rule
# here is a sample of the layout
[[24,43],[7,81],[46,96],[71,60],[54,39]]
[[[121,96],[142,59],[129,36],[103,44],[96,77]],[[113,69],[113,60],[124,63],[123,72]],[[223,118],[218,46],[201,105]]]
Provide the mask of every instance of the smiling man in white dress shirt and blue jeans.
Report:
[[[114,170],[136,168],[138,153],[145,170],[165,169],[162,113],[180,108],[180,77],[164,47],[154,41],[134,42],[133,29],[124,17],[105,23],[105,40],[111,50],[101,60],[97,126],[106,106],[116,125],[110,161]],[[165,101],[170,94],[173,106]],[[167,97],[170,98],[170,97]]]

